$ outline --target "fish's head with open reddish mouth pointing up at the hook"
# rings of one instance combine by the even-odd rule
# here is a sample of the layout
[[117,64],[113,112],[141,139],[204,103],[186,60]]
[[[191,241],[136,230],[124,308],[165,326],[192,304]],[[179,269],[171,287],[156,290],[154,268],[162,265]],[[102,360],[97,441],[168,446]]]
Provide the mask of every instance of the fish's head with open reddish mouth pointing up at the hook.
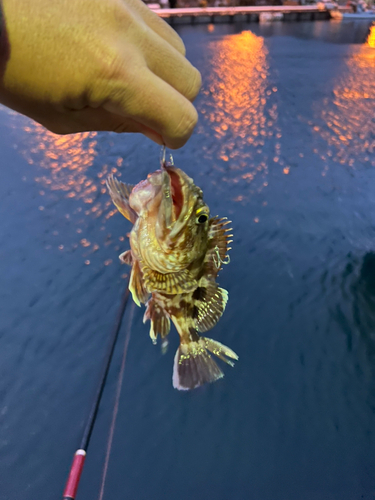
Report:
[[207,241],[209,208],[202,190],[179,168],[164,166],[149,174],[133,188],[129,203],[140,217],[154,222],[154,236],[164,249]]

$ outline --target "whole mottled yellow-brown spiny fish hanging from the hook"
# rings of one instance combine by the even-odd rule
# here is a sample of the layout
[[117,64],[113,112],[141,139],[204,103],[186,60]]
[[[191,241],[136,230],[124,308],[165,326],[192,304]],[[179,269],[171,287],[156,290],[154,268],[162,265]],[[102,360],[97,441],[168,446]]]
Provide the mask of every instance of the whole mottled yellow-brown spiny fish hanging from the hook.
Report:
[[202,190],[165,161],[136,186],[111,175],[107,187],[117,209],[133,224],[130,250],[119,258],[131,266],[134,302],[146,304],[143,322],[151,322],[150,337],[156,344],[160,335],[166,347],[171,320],[180,336],[173,386],[194,389],[223,377],[210,353],[231,366],[238,356],[200,334],[215,326],[228,300],[216,277],[229,262],[230,221],[210,217]]

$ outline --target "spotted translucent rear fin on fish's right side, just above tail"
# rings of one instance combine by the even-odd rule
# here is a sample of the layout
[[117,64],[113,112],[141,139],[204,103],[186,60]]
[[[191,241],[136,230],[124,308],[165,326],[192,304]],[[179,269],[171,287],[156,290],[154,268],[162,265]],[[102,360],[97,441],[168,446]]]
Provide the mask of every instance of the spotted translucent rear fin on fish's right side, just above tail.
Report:
[[201,278],[199,287],[193,294],[197,307],[197,329],[199,332],[211,330],[221,318],[228,302],[228,292],[217,283]]

